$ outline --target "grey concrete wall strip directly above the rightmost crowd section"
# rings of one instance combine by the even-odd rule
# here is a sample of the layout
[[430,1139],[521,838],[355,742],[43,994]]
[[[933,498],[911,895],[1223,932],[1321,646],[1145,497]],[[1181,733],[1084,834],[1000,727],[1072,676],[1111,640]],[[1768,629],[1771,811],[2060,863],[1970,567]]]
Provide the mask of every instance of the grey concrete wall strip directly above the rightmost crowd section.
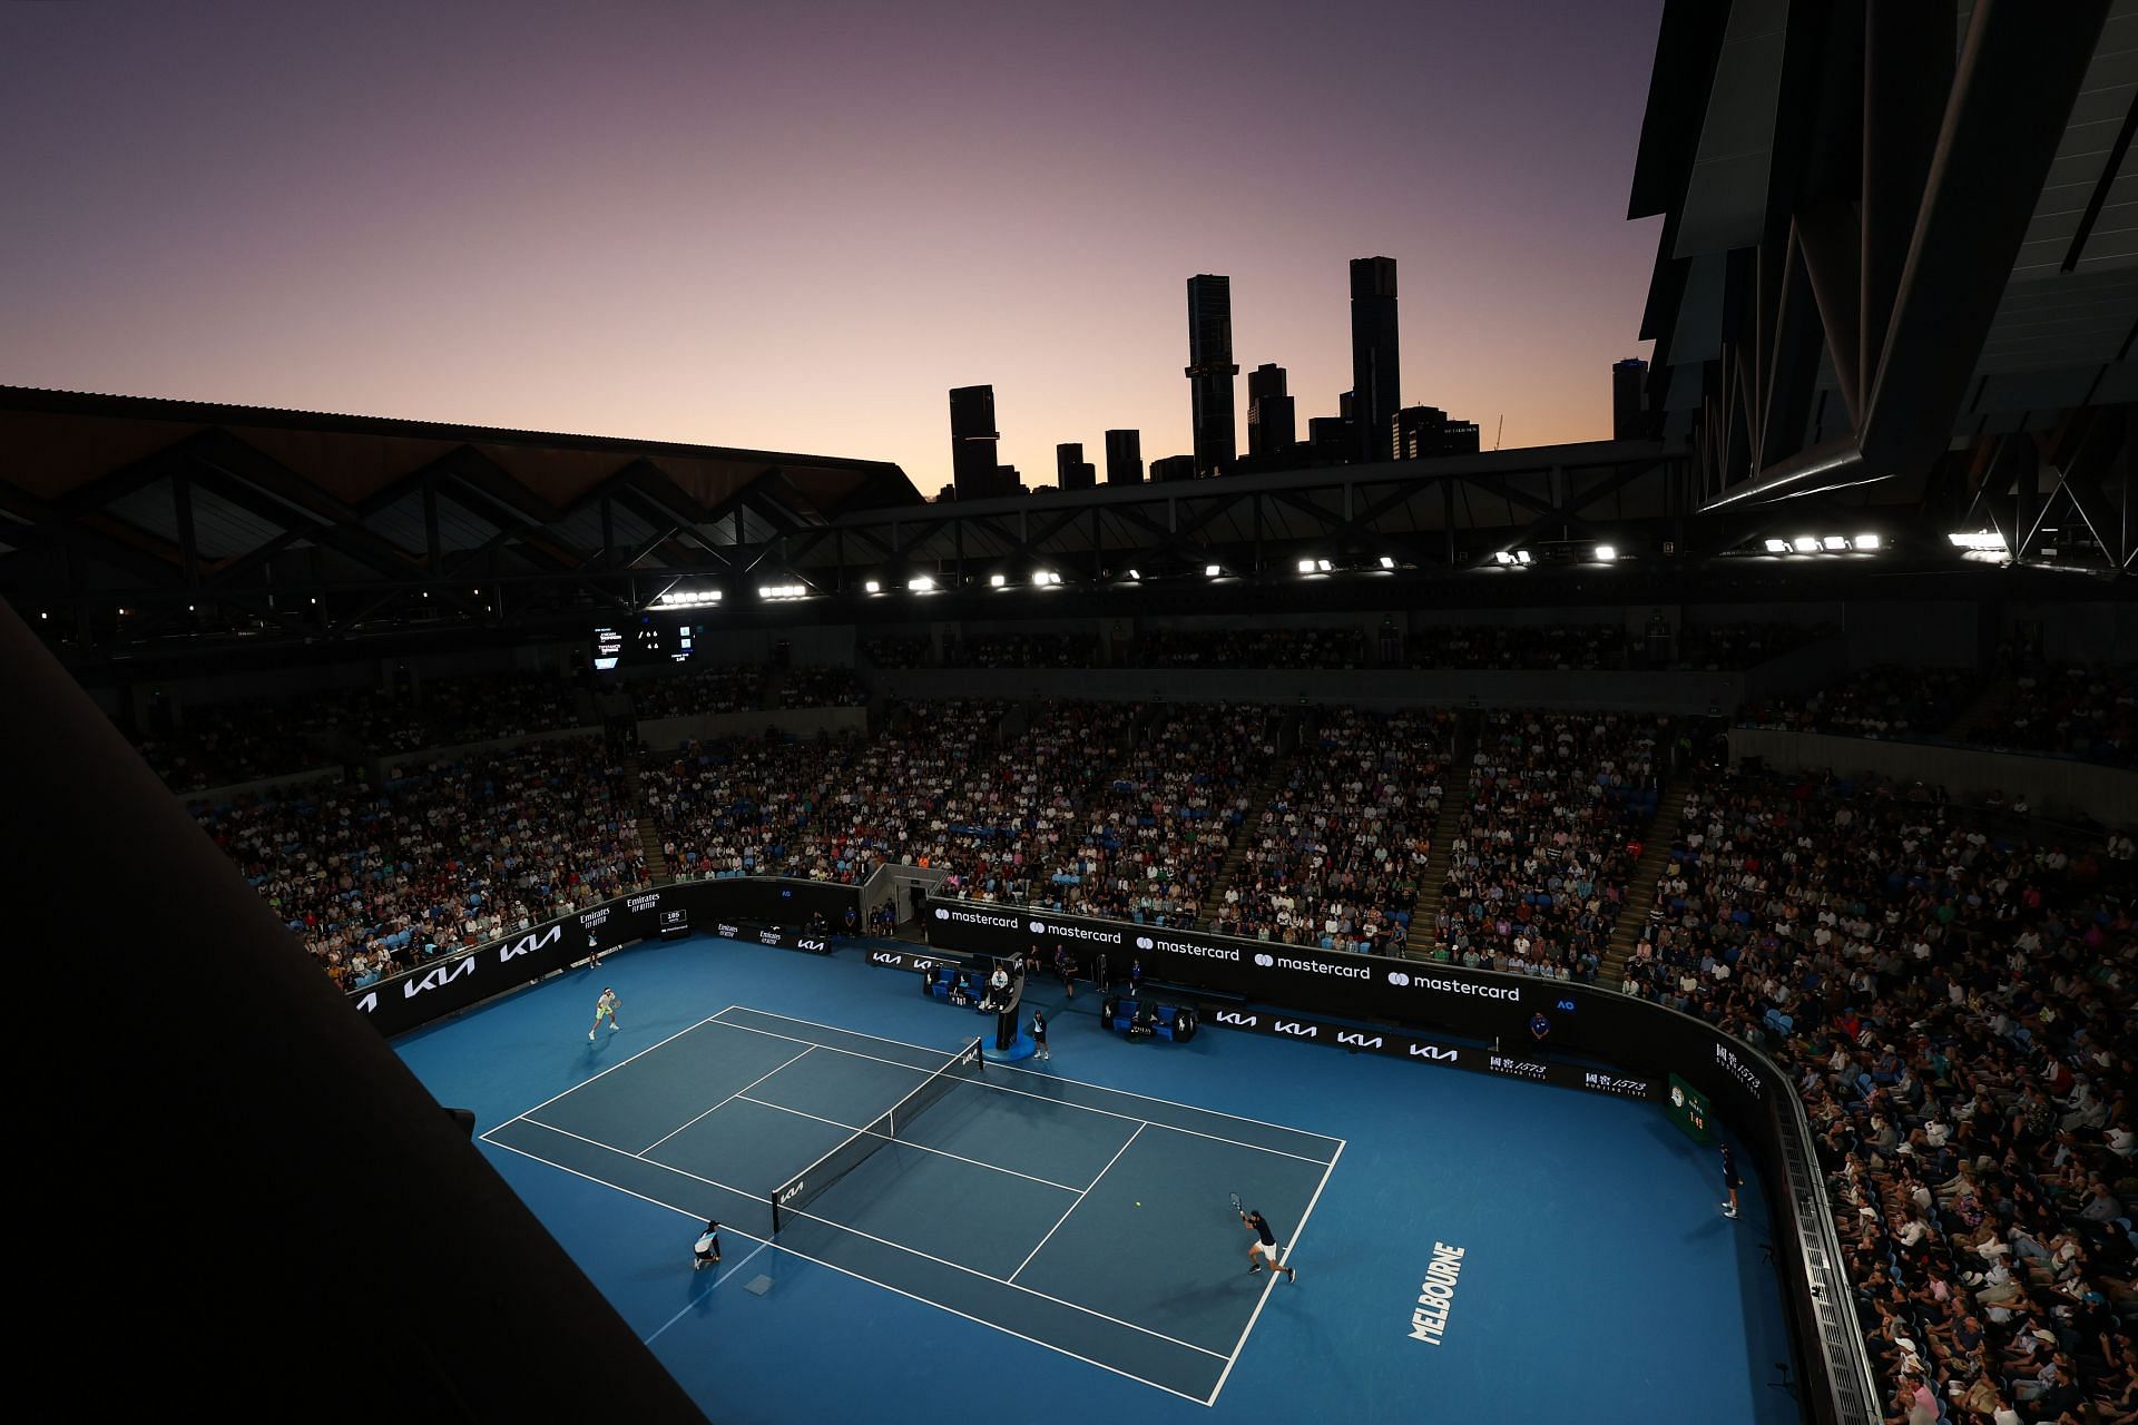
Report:
[[2061,756],[2016,752],[1969,752],[1916,741],[1834,737],[1830,733],[1785,733],[1775,729],[1730,729],[1730,763],[1747,756],[1785,771],[1875,773],[1896,782],[1943,786],[1961,801],[1988,793],[2005,799],[2025,795],[2042,816],[2091,816],[2108,827],[2138,820],[2138,771],[2095,767]]

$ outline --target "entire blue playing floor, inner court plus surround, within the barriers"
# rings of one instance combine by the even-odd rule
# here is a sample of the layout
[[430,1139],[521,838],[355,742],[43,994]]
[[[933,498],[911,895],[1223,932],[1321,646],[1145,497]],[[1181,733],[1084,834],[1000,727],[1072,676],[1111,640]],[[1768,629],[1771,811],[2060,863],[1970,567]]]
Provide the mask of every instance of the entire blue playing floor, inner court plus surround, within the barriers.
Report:
[[[624,1028],[588,1045],[603,985]],[[1760,1184],[1725,1220],[1715,1152],[1653,1105],[1131,1045],[1088,991],[1035,991],[1052,1062],[949,1083],[770,1246],[772,1192],[992,1017],[859,955],[695,938],[396,1047],[714,1421],[1798,1419]],[[1246,1273],[1231,1192],[1296,1284]],[[708,1216],[725,1260],[693,1271]]]

